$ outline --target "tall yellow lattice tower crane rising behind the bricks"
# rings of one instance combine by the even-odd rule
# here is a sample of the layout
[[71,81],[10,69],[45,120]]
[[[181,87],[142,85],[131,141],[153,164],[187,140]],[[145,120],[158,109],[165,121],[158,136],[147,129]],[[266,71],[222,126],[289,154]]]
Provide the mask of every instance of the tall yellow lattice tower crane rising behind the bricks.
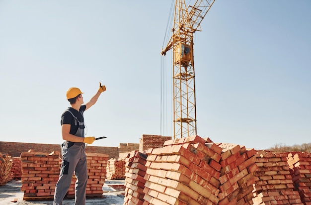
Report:
[[172,36],[161,55],[173,52],[173,129],[174,139],[197,134],[193,34],[201,31],[200,23],[215,0],[196,0],[186,5],[175,0]]

